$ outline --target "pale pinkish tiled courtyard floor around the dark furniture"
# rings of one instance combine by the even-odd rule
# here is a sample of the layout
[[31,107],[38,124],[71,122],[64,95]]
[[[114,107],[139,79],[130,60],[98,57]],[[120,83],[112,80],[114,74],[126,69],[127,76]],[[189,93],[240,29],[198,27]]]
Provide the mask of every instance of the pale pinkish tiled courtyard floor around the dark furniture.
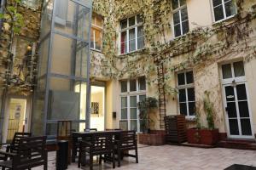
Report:
[[[200,149],[184,146],[139,146],[139,163],[134,158],[125,158],[117,170],[222,170],[232,164],[256,167],[256,151],[223,148]],[[35,168],[37,170],[43,167]],[[55,153],[49,153],[49,170],[55,169]],[[77,163],[68,167],[79,170]],[[82,169],[89,169],[83,167]],[[95,164],[95,170],[112,169],[111,163]]]

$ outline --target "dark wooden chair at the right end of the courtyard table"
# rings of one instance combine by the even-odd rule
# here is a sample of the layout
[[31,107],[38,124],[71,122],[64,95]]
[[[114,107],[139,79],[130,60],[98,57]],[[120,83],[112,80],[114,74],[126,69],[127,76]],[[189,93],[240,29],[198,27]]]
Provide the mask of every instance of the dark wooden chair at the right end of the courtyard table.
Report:
[[[131,156],[136,158],[136,163],[138,163],[137,154],[137,138],[135,131],[123,131],[120,133],[119,140],[116,140],[117,154],[118,154],[118,167],[120,167],[122,156]],[[129,150],[135,150],[135,155],[129,154]],[[125,153],[125,151],[127,153]]]

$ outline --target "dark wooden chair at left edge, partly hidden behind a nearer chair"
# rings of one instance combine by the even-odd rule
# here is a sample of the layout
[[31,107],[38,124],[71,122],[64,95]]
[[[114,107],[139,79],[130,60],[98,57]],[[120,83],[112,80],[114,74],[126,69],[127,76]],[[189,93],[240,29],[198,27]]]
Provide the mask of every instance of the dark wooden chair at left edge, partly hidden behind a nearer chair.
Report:
[[[1,144],[1,145],[6,145],[6,152],[10,153],[17,153],[17,146],[20,143],[20,139],[28,138],[31,137],[32,133],[15,133],[15,136],[10,144]],[[8,156],[1,155],[0,160],[6,161],[8,159]]]

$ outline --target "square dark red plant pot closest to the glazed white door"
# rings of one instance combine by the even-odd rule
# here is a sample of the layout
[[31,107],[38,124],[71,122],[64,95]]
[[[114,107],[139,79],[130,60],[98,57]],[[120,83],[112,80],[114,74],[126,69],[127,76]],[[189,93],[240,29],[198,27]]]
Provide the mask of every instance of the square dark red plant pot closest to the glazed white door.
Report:
[[218,143],[218,129],[201,129],[201,144],[214,145]]

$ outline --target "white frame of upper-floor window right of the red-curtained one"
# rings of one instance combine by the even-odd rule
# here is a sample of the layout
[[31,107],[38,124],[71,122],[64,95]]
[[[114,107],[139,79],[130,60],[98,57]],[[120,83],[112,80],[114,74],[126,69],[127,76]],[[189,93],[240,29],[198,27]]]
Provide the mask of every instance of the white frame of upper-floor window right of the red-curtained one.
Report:
[[[175,8],[175,9],[172,8],[172,31],[173,31],[174,38],[183,37],[184,35],[186,35],[189,32],[188,31],[186,33],[183,33],[183,22],[187,21],[187,20],[182,21],[181,11],[183,10],[183,8],[187,8],[187,2],[183,6],[180,6],[180,0],[178,0],[178,8]],[[188,8],[187,8],[187,12],[188,12]],[[177,36],[177,37],[175,36],[175,26],[176,25],[174,25],[174,14],[175,13],[178,13],[178,15],[179,15],[179,25],[180,25],[180,31],[181,31],[181,35]],[[188,21],[189,21],[189,13],[188,13]]]

